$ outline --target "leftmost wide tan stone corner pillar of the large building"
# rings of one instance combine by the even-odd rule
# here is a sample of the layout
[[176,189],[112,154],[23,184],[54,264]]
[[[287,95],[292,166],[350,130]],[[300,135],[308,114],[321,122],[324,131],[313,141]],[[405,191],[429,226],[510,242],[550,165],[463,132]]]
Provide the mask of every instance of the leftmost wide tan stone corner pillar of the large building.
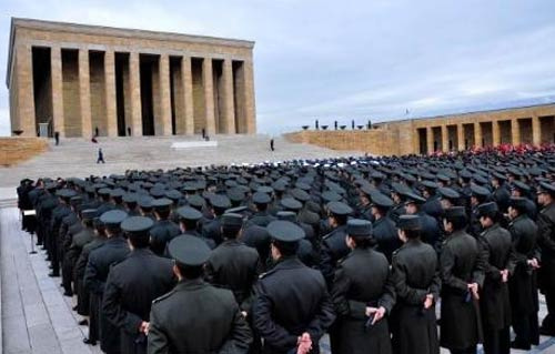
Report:
[[[21,136],[37,136],[37,123],[34,117],[34,89],[33,89],[33,64],[32,47],[20,44],[16,49],[14,73],[18,82],[16,87],[17,107],[16,117],[11,117],[11,130],[22,130]],[[14,78],[11,78],[13,84]]]

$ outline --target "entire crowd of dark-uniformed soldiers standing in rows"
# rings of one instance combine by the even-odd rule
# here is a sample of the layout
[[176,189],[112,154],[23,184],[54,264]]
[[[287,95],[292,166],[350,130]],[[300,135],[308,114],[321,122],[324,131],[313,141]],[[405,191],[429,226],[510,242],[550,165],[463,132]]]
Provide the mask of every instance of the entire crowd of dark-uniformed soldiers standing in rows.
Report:
[[333,354],[490,354],[555,335],[555,149],[26,179],[18,194],[84,342],[109,354],[319,353],[326,333]]

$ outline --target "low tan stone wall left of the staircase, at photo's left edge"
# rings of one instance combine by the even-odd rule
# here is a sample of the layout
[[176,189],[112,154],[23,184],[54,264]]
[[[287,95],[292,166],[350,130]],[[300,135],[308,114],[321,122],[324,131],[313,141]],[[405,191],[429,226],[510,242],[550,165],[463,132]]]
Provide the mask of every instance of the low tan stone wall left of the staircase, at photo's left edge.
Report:
[[0,166],[13,166],[48,150],[43,138],[0,138]]

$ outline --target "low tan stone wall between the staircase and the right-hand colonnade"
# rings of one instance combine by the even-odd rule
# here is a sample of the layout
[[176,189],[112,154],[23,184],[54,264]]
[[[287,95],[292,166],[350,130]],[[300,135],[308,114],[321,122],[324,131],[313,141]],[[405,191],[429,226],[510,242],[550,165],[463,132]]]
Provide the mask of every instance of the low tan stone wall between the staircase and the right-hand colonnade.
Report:
[[402,152],[398,130],[305,130],[284,134],[295,143],[313,144],[333,150],[362,151],[374,155]]

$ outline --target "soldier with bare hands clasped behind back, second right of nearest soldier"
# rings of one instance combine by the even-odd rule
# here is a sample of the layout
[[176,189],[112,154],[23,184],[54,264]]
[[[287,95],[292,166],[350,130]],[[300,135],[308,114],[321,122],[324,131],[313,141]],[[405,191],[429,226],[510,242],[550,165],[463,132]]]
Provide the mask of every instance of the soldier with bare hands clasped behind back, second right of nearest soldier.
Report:
[[331,340],[335,354],[392,353],[387,317],[395,293],[387,259],[372,250],[372,223],[352,219],[345,243],[351,250],[335,271],[332,299],[337,313]]

